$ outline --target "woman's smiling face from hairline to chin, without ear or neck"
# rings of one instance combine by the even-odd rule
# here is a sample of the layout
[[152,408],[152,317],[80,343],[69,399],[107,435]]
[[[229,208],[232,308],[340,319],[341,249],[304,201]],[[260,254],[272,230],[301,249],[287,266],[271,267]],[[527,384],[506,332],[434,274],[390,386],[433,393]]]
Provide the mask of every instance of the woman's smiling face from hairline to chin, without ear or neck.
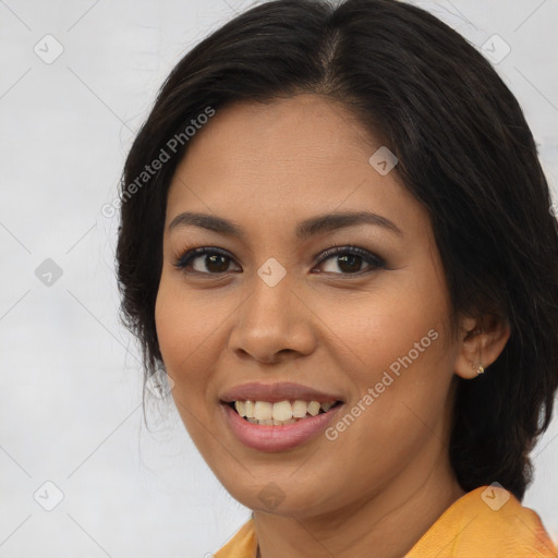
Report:
[[[380,144],[314,95],[217,110],[190,142],[168,195],[156,323],[174,402],[219,481],[251,509],[311,517],[447,470],[459,348],[444,270],[425,209],[386,173],[383,151],[368,161]],[[359,213],[372,216],[298,235],[304,221]],[[324,256],[336,246],[345,250]],[[247,383],[284,381],[342,405],[271,426],[221,402]],[[264,415],[274,402],[242,399],[263,400]],[[317,424],[305,437],[304,421]]]

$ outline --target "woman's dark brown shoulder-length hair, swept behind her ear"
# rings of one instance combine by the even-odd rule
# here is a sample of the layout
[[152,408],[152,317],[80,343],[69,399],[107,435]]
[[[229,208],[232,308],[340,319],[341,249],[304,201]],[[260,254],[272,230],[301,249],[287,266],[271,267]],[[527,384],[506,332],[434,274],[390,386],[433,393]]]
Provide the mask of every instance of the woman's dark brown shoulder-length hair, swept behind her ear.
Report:
[[464,38],[408,3],[270,1],[172,70],[122,180],[122,316],[142,344],[145,379],[162,365],[154,313],[162,230],[187,141],[133,195],[130,184],[208,107],[300,93],[341,101],[396,154],[395,172],[430,215],[453,319],[493,312],[509,322],[487,372],[457,378],[449,456],[463,489],[497,481],[521,500],[558,383],[558,226],[514,96]]

